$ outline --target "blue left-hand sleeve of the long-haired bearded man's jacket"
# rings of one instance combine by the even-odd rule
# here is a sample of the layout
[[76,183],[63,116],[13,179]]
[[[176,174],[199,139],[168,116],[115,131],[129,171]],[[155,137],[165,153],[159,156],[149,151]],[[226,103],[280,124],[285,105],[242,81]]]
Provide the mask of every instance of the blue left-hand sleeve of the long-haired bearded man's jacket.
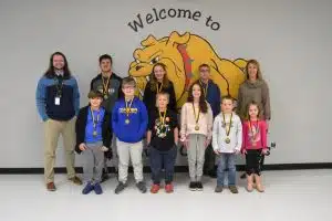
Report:
[[37,92],[35,92],[35,104],[37,109],[43,122],[48,120],[49,116],[46,115],[46,90],[43,84],[43,78],[38,82]]

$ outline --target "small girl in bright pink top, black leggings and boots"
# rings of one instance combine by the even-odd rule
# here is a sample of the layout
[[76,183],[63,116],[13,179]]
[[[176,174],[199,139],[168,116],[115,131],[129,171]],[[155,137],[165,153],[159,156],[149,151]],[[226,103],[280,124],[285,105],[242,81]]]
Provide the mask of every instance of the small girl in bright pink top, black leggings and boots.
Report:
[[253,190],[253,178],[256,188],[263,192],[261,185],[261,164],[262,155],[268,152],[267,148],[267,123],[260,119],[260,108],[255,102],[249,103],[247,114],[242,124],[242,154],[246,156],[247,190]]

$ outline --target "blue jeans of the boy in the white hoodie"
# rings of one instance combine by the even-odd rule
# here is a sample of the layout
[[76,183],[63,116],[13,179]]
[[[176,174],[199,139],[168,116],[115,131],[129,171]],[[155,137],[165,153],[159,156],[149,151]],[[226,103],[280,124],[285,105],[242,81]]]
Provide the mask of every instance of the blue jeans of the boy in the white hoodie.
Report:
[[228,168],[228,186],[236,186],[236,155],[221,154],[218,162],[217,186],[224,186],[225,169]]

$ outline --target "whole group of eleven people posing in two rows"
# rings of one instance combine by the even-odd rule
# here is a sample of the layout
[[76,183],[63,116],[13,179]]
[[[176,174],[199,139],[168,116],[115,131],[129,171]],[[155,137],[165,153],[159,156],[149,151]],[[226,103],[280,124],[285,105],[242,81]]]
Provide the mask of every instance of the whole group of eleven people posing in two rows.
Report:
[[[210,80],[210,67],[199,66],[200,78],[190,85],[187,102],[178,116],[173,82],[163,63],[153,67],[143,99],[135,96],[133,77],[121,78],[112,72],[112,57],[100,56],[101,74],[91,82],[89,105],[80,108],[80,92],[66,57],[55,52],[37,87],[37,107],[44,122],[44,178],[46,189],[54,191],[55,149],[63,137],[68,178],[82,185],[74,169],[75,151],[83,155],[82,193],[103,193],[101,182],[107,176],[112,146],[118,157],[118,185],[115,193],[127,187],[132,161],[136,187],[146,192],[143,177],[144,141],[152,170],[152,193],[165,180],[165,191],[174,191],[174,168],[179,144],[187,149],[189,189],[203,190],[204,172],[215,177],[215,191],[221,192],[228,172],[228,188],[237,193],[236,155],[246,156],[247,190],[262,192],[261,169],[267,154],[267,130],[270,119],[269,90],[262,80],[259,63],[248,61],[247,80],[240,86],[235,109],[232,97],[220,94]],[[221,110],[220,110],[221,109]],[[179,118],[179,120],[178,120]],[[218,156],[218,160],[216,160]],[[218,161],[216,171],[215,162]]]

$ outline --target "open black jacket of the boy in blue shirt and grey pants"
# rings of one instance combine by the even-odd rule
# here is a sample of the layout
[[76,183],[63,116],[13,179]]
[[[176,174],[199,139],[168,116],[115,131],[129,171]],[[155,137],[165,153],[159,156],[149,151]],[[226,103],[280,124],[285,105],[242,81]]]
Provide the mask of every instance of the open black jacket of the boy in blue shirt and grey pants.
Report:
[[[75,151],[77,154],[81,154],[80,144],[85,143],[85,127],[86,127],[86,119],[89,115],[89,108],[90,106],[85,106],[80,109],[76,125],[75,125],[75,131],[76,131],[76,146]],[[108,147],[108,152],[105,152],[105,155],[112,155],[111,149],[111,143],[112,143],[112,127],[111,127],[111,115],[105,112],[104,120],[103,120],[103,128],[102,128],[102,137],[103,137],[103,145],[105,147]],[[110,157],[107,157],[110,158]]]

